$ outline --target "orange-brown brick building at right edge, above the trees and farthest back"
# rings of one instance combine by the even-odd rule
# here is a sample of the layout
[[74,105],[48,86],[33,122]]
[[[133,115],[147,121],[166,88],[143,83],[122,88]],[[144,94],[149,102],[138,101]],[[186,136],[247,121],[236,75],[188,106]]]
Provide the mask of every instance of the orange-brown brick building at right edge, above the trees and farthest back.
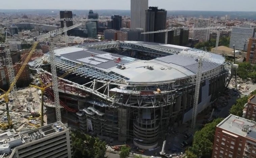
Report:
[[256,64],[256,38],[250,38],[247,46],[246,61]]

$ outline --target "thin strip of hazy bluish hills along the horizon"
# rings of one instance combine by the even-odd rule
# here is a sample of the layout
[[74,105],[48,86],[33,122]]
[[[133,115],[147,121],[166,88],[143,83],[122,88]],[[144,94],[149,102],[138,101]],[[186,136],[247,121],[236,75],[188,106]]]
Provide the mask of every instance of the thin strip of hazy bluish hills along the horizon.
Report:
[[[159,8],[159,7],[158,7]],[[164,8],[160,8],[164,9]],[[120,10],[120,11],[130,11],[129,9],[1,9],[0,10]],[[167,10],[167,11],[214,11],[214,12],[256,12],[256,11],[224,11],[224,10]]]

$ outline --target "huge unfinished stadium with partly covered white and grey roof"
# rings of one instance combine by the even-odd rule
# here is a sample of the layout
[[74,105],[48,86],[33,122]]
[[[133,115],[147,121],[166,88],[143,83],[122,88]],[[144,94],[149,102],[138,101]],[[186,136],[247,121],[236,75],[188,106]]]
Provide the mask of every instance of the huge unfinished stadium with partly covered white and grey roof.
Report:
[[[70,126],[151,149],[166,130],[191,120],[198,58],[203,60],[198,113],[228,85],[231,65],[222,56],[183,46],[137,41],[87,43],[56,49],[62,119]],[[51,83],[49,54],[30,62]],[[38,80],[37,80],[38,81]],[[47,118],[54,114],[45,91]],[[52,112],[52,113],[51,113]],[[49,120],[48,120],[49,121]]]

